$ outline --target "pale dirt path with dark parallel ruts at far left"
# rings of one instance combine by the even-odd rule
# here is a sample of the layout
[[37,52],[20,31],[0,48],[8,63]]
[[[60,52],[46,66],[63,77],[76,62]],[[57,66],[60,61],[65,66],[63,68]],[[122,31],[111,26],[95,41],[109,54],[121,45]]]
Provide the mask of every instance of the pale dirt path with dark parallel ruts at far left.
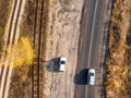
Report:
[[[7,23],[7,28],[4,33],[7,45],[14,44],[19,39],[20,24],[22,20],[22,14],[24,12],[24,5],[25,5],[25,0],[19,0],[19,1],[13,0],[11,14]],[[12,16],[13,16],[13,20],[12,20]],[[8,39],[9,32],[11,32],[10,40]],[[9,40],[9,44],[8,44],[8,40]],[[4,54],[3,54],[3,58],[4,58]],[[10,68],[8,68],[7,65],[4,66],[3,74],[2,74],[2,81],[1,81],[1,87],[0,87],[0,98],[8,98],[11,75],[12,75],[12,70],[13,70],[12,66],[13,66],[13,63],[10,63]]]

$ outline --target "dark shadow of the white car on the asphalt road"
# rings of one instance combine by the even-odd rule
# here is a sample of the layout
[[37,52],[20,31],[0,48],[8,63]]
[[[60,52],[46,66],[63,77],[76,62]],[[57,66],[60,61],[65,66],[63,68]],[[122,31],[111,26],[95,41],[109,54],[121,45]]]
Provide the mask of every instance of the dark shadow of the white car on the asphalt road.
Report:
[[84,70],[80,71],[80,73],[76,74],[73,78],[74,84],[76,84],[76,85],[87,85],[87,73],[88,73],[87,69],[84,69]]

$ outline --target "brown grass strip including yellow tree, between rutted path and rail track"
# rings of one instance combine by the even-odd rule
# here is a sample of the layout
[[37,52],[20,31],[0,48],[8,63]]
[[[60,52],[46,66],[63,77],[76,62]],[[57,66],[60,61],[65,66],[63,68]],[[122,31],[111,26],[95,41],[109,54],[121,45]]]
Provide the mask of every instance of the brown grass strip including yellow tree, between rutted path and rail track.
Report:
[[[15,68],[13,69],[12,81],[10,84],[9,96],[10,98],[29,98],[32,86],[32,63],[35,57],[33,50],[33,28],[35,16],[35,1],[27,0],[25,10],[22,17],[20,28],[20,44],[16,49],[17,60],[14,61]],[[22,49],[21,49],[22,48]],[[14,53],[15,54],[15,53]]]

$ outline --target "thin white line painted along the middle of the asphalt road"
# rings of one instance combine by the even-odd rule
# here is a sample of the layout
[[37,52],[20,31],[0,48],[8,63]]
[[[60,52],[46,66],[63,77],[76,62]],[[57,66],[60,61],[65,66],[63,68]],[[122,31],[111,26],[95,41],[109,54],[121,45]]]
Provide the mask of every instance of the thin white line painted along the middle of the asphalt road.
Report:
[[[93,16],[93,27],[92,27],[92,32],[91,32],[91,44],[90,44],[90,54],[88,54],[88,60],[87,60],[87,68],[90,68],[90,61],[91,61],[91,51],[92,51],[92,46],[93,46],[93,35],[94,35],[94,28],[95,28],[94,25],[95,25],[95,20],[96,20],[97,5],[98,5],[98,0],[96,0],[95,12],[94,12],[94,16]],[[87,86],[85,89],[85,98],[87,98]]]

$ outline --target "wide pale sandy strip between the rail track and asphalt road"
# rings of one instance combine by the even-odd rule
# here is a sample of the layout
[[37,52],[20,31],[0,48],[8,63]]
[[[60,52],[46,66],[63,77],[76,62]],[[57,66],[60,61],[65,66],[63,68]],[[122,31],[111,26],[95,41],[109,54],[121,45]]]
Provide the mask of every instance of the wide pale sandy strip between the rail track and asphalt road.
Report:
[[67,58],[66,72],[51,72],[47,68],[47,98],[73,98],[78,63],[80,19],[84,0],[50,0],[47,35],[47,66],[55,65],[51,59]]

